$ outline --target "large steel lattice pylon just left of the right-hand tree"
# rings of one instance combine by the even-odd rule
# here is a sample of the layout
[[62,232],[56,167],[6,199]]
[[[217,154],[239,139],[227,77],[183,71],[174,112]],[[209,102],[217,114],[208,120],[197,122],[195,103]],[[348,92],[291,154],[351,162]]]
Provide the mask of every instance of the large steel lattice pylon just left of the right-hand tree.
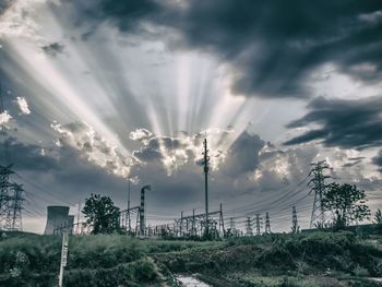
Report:
[[322,195],[325,192],[326,184],[325,179],[330,176],[324,175],[324,170],[330,169],[326,160],[318,162],[312,164],[312,169],[309,172],[311,179],[308,186],[311,187],[310,192],[314,192],[313,208],[310,218],[310,228],[323,227],[325,223],[325,213],[322,206]]

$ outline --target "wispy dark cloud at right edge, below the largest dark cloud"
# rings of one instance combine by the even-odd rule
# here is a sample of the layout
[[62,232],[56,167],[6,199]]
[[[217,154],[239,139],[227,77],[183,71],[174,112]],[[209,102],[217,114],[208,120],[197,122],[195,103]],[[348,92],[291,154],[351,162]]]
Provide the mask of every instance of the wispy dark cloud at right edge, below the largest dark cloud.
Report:
[[312,100],[310,111],[290,122],[287,128],[318,124],[301,135],[285,142],[286,145],[320,141],[325,146],[362,150],[382,143],[382,98]]

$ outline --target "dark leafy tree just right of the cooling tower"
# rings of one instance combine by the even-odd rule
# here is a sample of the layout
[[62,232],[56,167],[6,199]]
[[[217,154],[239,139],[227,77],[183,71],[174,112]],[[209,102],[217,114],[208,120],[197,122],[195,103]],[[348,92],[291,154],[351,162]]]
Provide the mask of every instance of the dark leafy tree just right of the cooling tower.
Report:
[[87,218],[86,223],[93,227],[93,234],[120,231],[120,211],[109,196],[92,193],[91,198],[86,199],[82,213]]

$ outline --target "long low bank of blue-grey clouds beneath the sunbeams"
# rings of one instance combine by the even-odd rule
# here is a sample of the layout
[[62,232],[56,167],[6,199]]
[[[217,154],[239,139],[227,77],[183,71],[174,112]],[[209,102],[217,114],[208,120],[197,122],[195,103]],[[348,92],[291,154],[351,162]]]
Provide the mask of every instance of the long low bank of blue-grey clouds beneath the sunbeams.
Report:
[[[67,133],[70,131],[76,134],[76,142],[81,142],[81,144],[69,144],[69,137],[65,141],[61,136],[62,146],[55,147],[53,151],[47,151],[46,155],[43,156],[40,154],[41,148],[37,145],[24,146],[16,143],[15,140],[10,141],[11,153],[16,156],[12,160],[17,163],[17,171],[24,178],[45,187],[46,192],[51,194],[40,201],[36,207],[45,210],[48,204],[62,204],[59,201],[62,194],[64,194],[67,202],[74,205],[80,199],[83,200],[93,192],[112,196],[115,202],[124,208],[127,200],[126,179],[110,172],[116,167],[97,166],[96,163],[88,159],[89,151],[96,151],[99,141],[97,143],[97,141],[88,141],[87,137],[80,136],[84,131],[87,131],[87,128],[79,122],[61,125],[60,129],[64,129]],[[142,134],[151,133],[143,132]],[[167,139],[167,136],[152,134],[152,139],[162,137]],[[170,137],[164,142],[180,141],[183,143],[184,140],[181,139]],[[82,144],[91,142],[93,143],[92,146],[88,146],[92,147],[91,150]],[[148,142],[141,142],[142,150],[139,151],[147,148],[148,152],[155,152],[156,148],[148,147]],[[145,183],[153,184],[153,192],[147,195],[147,206],[150,206],[152,213],[157,211],[167,215],[175,214],[182,208],[196,207],[203,202],[203,169],[194,162],[195,154],[199,155],[202,152],[202,145],[190,144],[194,150],[184,144],[167,145],[170,148],[168,153],[171,151],[180,152],[183,148],[189,148],[188,152],[191,153],[187,158],[182,157],[183,163],[170,174],[168,174],[168,167],[162,160],[151,158],[150,160],[142,160],[147,164],[133,163],[130,175],[139,177],[139,187]],[[264,151],[265,147],[272,151],[266,152]],[[98,148],[97,151],[105,153],[105,155],[110,154],[108,150]],[[213,152],[211,151],[211,153]],[[267,153],[266,156],[265,153]],[[289,165],[288,179],[294,181],[295,178],[301,177],[301,172],[308,170],[309,164],[315,154],[317,151],[307,150],[306,147],[280,152],[275,150],[272,144],[265,144],[259,135],[243,132],[231,148],[227,151],[226,160],[220,162],[217,169],[211,169],[212,199],[217,202],[218,199],[229,196],[232,193],[241,194],[246,192],[246,194],[251,194],[255,191],[283,190],[288,183],[284,180],[285,176],[279,175],[274,169],[278,165],[278,162],[275,160],[284,160]],[[100,155],[98,154],[98,156]],[[39,165],[37,166],[38,169],[36,164]],[[234,165],[237,165],[236,168]],[[237,169],[241,174],[237,172]],[[261,171],[262,177],[259,180],[253,180],[251,175],[256,170]],[[35,196],[35,193],[41,195],[41,191],[36,189],[35,186],[31,186],[28,182],[21,183],[25,183],[25,189],[31,196]],[[135,192],[139,187],[132,187],[132,204],[139,202],[139,194]],[[174,206],[177,206],[177,208],[174,210]],[[171,208],[170,212],[168,208]]]

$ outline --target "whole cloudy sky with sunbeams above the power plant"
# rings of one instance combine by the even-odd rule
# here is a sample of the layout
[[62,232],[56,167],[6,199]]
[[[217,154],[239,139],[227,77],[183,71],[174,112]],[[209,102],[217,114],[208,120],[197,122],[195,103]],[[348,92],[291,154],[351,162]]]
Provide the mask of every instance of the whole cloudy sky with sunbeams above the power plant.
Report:
[[210,210],[309,226],[311,163],[382,207],[380,0],[0,0],[1,165],[24,230],[91,193],[150,225]]

